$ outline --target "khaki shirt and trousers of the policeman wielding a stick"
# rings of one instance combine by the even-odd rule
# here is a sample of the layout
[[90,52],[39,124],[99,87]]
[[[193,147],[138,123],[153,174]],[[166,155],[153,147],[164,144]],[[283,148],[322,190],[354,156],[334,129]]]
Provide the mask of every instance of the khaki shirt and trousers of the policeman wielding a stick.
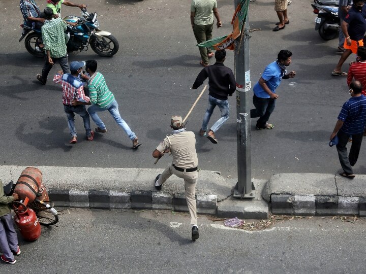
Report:
[[[170,176],[172,176],[172,174],[184,179],[185,195],[188,210],[191,215],[191,224],[197,224],[195,190],[198,172],[197,170],[194,172],[187,172],[186,170],[188,168],[195,168],[198,166],[195,134],[192,131],[183,131],[173,135],[168,135],[157,147],[157,150],[163,152],[169,148],[173,155],[173,162],[164,170],[157,183],[163,184]],[[183,168],[184,171],[179,171],[174,166]]]

